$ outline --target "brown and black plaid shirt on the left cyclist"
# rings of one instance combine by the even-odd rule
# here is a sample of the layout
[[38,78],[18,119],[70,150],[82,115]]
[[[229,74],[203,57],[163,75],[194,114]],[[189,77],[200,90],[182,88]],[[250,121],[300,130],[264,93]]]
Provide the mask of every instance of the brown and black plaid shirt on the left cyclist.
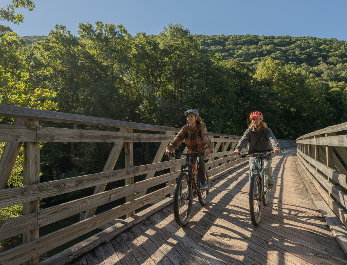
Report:
[[200,152],[206,149],[213,151],[211,140],[208,137],[206,125],[204,123],[198,124],[194,131],[191,125],[186,124],[183,126],[172,143],[166,147],[166,151],[174,151],[186,139],[186,146],[189,153]]

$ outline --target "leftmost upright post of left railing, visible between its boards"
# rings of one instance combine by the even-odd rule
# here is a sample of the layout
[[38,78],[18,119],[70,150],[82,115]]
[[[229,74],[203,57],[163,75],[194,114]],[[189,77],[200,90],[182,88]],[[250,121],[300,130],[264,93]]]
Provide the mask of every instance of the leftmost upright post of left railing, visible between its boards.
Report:
[[[38,120],[27,120],[28,126],[40,126]],[[23,166],[23,185],[31,185],[40,183],[40,143],[28,142],[24,143],[24,166]],[[23,204],[23,215],[39,211],[40,200]],[[23,244],[40,237],[40,229],[36,228],[23,233]],[[39,263],[39,256],[36,256],[25,265]]]

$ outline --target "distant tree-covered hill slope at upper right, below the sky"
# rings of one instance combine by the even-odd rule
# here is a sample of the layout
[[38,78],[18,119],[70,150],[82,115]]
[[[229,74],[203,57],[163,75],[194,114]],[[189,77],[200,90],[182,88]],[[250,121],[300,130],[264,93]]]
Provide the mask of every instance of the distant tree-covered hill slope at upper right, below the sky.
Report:
[[346,83],[346,41],[310,36],[195,35],[201,46],[256,68],[266,59],[306,70],[327,82]]

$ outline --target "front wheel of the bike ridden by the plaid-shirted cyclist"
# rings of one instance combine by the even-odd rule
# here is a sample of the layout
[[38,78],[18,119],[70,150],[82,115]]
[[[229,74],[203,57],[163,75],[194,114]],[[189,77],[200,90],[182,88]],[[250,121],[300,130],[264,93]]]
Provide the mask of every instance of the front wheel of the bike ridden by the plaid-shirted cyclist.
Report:
[[178,225],[184,226],[188,223],[192,213],[192,187],[189,186],[189,176],[180,174],[174,189],[174,216]]

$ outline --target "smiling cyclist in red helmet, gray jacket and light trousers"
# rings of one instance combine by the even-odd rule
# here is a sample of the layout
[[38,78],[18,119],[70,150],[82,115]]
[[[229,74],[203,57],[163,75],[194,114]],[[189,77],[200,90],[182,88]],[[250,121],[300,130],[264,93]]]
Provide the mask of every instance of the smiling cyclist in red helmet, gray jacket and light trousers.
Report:
[[[247,145],[247,143],[249,143],[247,152],[248,154],[265,153],[270,151],[278,154],[280,152],[280,145],[277,142],[276,137],[273,135],[271,129],[266,126],[265,122],[263,122],[263,114],[259,111],[252,112],[249,116],[249,119],[251,120],[251,124],[236,146],[234,155],[239,155],[241,150]],[[255,157],[249,157],[249,182],[251,182],[254,160]],[[272,191],[274,190],[274,185],[271,167],[271,155],[263,156],[263,161],[264,171],[266,176],[268,176],[269,191]]]

